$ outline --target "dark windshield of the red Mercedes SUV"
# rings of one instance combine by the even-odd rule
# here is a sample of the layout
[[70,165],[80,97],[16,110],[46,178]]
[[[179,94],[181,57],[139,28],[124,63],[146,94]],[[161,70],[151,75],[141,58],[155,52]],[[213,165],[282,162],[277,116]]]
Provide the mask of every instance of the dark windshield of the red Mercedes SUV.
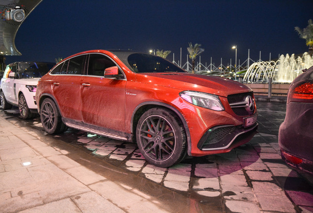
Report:
[[186,72],[169,61],[148,54],[133,53],[127,58],[134,72]]

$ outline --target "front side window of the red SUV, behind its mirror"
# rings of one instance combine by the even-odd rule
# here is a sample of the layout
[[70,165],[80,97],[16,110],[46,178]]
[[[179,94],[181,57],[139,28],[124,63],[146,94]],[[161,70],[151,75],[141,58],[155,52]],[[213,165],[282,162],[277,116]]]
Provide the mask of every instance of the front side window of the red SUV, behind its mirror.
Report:
[[107,56],[91,54],[88,64],[88,75],[104,76],[104,70],[114,66],[116,64]]

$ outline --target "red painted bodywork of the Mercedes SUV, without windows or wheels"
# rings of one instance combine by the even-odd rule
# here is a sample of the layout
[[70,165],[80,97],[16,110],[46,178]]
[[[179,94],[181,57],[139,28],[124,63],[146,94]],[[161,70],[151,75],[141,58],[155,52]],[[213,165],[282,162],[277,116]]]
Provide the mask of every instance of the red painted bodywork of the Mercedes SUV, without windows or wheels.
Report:
[[[223,125],[242,127],[244,118],[257,114],[254,96],[249,87],[217,76],[184,71],[136,73],[113,51],[86,51],[70,56],[63,62],[75,56],[94,53],[111,58],[125,79],[105,78],[104,75],[94,77],[86,73],[78,75],[48,73],[41,78],[37,86],[36,100],[39,112],[43,99],[49,96],[56,102],[63,118],[123,133],[124,136],[128,136],[125,137],[126,140],[132,141],[136,134],[134,124],[138,116],[136,113],[142,114],[143,112],[139,111],[144,106],[163,106],[174,111],[183,123],[188,141],[188,155],[191,156],[228,152],[238,145],[249,142],[255,134],[228,144],[229,146],[225,148],[214,150],[198,148],[198,142],[211,128]],[[85,66],[88,66],[87,63]],[[217,95],[224,110],[215,111],[190,104],[180,97],[179,94],[183,91]],[[227,100],[229,95],[243,93],[251,94],[254,105],[249,115],[244,116],[237,115]],[[256,128],[255,123],[250,132],[256,132]]]

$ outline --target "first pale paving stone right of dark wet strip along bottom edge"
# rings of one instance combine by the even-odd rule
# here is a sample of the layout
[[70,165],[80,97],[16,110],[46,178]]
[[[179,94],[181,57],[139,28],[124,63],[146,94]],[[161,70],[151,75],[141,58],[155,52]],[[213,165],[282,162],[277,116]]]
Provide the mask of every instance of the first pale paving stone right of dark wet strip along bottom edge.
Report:
[[[225,206],[236,213],[261,213],[260,208],[252,202],[226,200]],[[228,212],[228,211],[226,211]]]

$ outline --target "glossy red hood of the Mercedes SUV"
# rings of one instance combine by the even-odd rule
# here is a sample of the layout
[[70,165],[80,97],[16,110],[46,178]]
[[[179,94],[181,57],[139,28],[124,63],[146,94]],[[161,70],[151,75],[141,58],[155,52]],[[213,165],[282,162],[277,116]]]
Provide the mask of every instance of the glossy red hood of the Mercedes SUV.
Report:
[[205,92],[223,97],[252,91],[250,87],[226,78],[184,72],[136,73],[136,80],[141,83],[171,87],[182,91]]

